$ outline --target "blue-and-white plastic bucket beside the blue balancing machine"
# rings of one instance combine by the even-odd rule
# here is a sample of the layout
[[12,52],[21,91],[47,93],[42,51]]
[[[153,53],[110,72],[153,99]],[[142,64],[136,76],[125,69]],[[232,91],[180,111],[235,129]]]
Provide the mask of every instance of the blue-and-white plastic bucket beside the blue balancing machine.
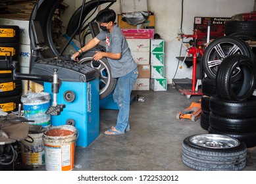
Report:
[[28,93],[22,95],[21,102],[24,108],[24,116],[28,120],[34,120],[29,124],[36,124],[43,127],[51,125],[51,116],[45,114],[50,106],[51,96],[49,93]]

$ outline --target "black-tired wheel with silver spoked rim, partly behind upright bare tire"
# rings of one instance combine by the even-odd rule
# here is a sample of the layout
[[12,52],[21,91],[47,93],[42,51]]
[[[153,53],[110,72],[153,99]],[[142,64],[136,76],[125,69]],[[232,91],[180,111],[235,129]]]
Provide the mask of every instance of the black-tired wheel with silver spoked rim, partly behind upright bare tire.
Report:
[[[205,74],[213,80],[215,80],[218,66],[225,57],[229,55],[240,54],[246,55],[247,57],[254,60],[253,51],[251,47],[238,37],[223,36],[218,37],[205,49],[203,54],[203,68]],[[240,70],[237,70],[232,75],[232,80],[237,80],[240,78]]]

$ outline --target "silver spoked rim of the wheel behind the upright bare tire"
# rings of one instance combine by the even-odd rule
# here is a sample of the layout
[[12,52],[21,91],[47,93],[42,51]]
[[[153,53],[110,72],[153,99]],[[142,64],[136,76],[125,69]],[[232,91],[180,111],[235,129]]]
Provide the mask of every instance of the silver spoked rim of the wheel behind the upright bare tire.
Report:
[[[224,51],[224,47],[228,46],[229,51]],[[216,76],[218,65],[222,62],[222,60],[230,55],[234,54],[241,54],[243,55],[241,49],[238,47],[238,45],[231,43],[231,42],[221,42],[215,45],[209,52],[209,55],[207,56],[207,67],[209,70],[211,70],[211,73],[213,73]],[[211,69],[212,68],[212,69]],[[238,67],[236,71],[234,71],[234,74],[232,77],[237,76],[238,73],[240,73],[240,68]]]

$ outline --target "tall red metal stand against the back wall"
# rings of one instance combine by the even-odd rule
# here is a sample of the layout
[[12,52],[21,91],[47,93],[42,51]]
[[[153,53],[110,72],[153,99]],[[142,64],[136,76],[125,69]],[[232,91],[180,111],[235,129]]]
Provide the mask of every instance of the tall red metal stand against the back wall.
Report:
[[[197,34],[196,34],[197,30],[193,30],[193,35],[181,35],[182,37],[193,37],[195,39],[195,43],[196,43],[196,39],[197,39]],[[193,55],[193,70],[192,70],[192,89],[179,89],[180,93],[182,95],[186,95],[186,99],[190,99],[191,95],[203,95],[201,89],[198,89],[198,85],[201,85],[201,80],[197,80],[196,79],[196,64],[197,64],[197,54],[200,53],[203,56],[203,49],[199,49],[195,46],[190,47],[187,49],[188,51],[188,56],[191,54]],[[183,62],[186,60],[186,57],[184,58]],[[182,62],[182,64],[183,64]],[[182,68],[182,66],[181,66]]]

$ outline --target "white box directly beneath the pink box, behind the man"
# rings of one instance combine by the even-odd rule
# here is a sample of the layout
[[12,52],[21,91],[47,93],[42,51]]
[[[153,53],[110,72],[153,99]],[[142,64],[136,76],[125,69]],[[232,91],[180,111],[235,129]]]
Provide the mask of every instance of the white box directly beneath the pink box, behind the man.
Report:
[[149,52],[150,39],[127,39],[131,52]]

